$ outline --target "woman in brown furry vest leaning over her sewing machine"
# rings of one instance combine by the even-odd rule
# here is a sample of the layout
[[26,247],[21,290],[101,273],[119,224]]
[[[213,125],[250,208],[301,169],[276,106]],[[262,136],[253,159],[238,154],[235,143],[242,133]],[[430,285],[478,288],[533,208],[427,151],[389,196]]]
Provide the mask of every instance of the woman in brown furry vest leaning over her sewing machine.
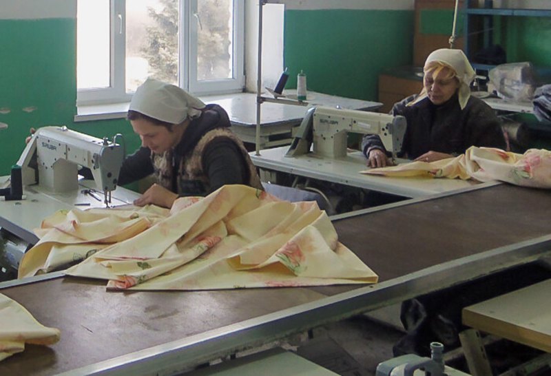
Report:
[[132,97],[127,118],[142,147],[125,159],[118,184],[156,177],[134,204],[171,207],[179,196],[205,196],[227,184],[262,189],[247,149],[219,105],[147,79]]

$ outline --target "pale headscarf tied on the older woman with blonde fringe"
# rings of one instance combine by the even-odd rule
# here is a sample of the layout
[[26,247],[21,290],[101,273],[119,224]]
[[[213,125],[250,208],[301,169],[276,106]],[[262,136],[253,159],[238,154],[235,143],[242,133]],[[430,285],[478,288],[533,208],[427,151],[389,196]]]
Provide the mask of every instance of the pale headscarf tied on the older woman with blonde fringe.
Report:
[[[439,61],[452,67],[455,70],[455,76],[459,80],[459,106],[461,109],[464,109],[467,105],[467,101],[470,96],[470,83],[475,79],[475,70],[472,69],[467,56],[461,50],[450,50],[449,48],[441,48],[440,50],[435,50],[428,55],[425,61],[425,70],[428,63],[433,61]],[[419,93],[415,101],[408,103],[408,105],[414,105],[415,103],[422,101],[426,98],[426,89],[423,87],[423,90]]]

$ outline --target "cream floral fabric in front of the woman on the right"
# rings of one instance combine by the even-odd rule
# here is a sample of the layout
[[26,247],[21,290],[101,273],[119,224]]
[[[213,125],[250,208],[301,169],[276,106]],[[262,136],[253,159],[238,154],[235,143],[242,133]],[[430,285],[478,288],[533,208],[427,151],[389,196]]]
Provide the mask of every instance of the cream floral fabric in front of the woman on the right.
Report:
[[382,176],[474,178],[482,182],[500,180],[524,187],[551,188],[551,152],[529,149],[524,154],[517,154],[473,146],[455,158],[430,163],[417,161],[360,172]]

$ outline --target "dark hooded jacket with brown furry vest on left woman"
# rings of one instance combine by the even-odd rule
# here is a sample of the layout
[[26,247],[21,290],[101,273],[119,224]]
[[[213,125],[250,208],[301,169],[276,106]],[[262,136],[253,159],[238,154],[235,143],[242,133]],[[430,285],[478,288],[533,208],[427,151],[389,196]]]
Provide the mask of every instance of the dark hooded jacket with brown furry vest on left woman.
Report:
[[206,196],[227,184],[261,187],[247,150],[229,127],[227,112],[219,105],[207,105],[174,149],[155,155],[141,147],[127,156],[119,185],[155,174],[158,184],[180,196]]

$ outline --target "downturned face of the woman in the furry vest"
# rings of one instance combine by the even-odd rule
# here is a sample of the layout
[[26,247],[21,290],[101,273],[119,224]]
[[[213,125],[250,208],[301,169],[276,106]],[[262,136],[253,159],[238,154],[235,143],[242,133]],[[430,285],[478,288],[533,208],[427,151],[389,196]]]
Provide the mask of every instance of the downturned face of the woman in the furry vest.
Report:
[[156,125],[144,118],[130,121],[134,133],[142,140],[142,146],[148,147],[155,154],[162,154],[178,144],[180,136],[177,132],[170,132],[167,127]]

